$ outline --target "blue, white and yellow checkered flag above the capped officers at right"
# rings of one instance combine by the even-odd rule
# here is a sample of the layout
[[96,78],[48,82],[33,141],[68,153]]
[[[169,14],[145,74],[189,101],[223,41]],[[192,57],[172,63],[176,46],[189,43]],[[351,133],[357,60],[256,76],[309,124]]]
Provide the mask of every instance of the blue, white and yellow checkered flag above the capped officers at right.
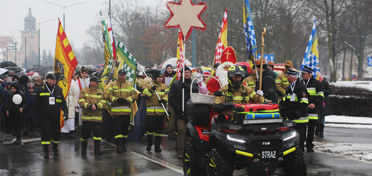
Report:
[[318,51],[318,37],[317,29],[314,21],[313,29],[311,30],[311,35],[309,38],[308,46],[306,47],[305,56],[302,60],[301,70],[304,68],[304,65],[312,68],[314,70],[313,77],[318,78],[320,75],[319,69],[319,51]]

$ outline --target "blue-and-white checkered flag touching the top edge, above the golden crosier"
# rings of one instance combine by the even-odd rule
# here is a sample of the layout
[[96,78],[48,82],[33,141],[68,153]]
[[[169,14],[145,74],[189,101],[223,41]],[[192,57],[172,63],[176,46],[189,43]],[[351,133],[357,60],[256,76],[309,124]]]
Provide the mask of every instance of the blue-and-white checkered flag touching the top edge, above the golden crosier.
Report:
[[248,59],[254,62],[257,58],[257,44],[248,0],[244,0],[244,35]]

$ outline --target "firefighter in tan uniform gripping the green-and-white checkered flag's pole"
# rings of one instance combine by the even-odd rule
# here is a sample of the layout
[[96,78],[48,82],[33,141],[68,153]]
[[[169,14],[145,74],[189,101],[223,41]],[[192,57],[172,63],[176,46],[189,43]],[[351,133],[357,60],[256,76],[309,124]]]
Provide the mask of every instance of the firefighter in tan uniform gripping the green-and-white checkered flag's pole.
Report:
[[[152,84],[146,85],[146,89],[143,91],[142,98],[147,100],[147,110],[146,110],[146,129],[147,129],[147,151],[151,151],[152,146],[152,139],[153,135],[155,135],[155,152],[161,152],[160,149],[160,142],[164,124],[164,115],[165,110],[161,104],[166,106],[166,102],[168,102],[168,94],[169,90],[168,87],[161,83],[162,75],[160,72],[155,71],[152,77]],[[157,94],[160,97],[157,97]]]

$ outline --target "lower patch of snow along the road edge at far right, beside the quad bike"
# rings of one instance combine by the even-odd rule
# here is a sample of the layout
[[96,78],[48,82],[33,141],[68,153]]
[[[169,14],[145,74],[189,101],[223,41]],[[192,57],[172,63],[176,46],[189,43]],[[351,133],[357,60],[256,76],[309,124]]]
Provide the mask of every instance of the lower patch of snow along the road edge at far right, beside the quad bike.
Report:
[[332,156],[372,163],[372,144],[313,142],[314,150]]

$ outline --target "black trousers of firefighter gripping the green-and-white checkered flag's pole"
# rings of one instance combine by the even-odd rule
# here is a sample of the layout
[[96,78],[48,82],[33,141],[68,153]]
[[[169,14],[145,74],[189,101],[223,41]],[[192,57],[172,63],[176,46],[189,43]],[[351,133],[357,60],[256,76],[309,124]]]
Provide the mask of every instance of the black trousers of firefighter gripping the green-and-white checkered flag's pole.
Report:
[[162,136],[164,116],[146,116],[147,134]]

